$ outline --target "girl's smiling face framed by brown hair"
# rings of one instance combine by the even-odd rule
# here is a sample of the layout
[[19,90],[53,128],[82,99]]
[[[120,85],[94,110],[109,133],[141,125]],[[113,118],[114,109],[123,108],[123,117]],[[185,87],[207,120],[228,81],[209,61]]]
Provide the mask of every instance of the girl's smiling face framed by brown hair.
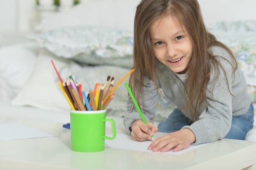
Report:
[[150,26],[150,40],[153,44],[155,57],[171,71],[185,74],[192,56],[192,44],[186,30],[178,27],[168,15],[159,18]]

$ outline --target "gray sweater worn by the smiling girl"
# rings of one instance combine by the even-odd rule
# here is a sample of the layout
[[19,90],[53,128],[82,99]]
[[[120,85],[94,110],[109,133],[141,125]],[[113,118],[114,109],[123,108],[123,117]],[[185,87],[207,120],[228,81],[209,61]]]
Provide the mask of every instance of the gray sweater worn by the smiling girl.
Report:
[[[231,60],[231,55],[225,49],[214,46],[210,50],[213,55],[225,57],[231,64],[234,64],[234,61]],[[229,93],[225,73],[220,69],[218,79],[214,81],[216,76],[212,69],[207,89],[212,92],[213,97],[207,91],[207,99],[203,101],[198,112],[200,115],[199,119],[190,126],[183,127],[189,128],[194,133],[196,140],[193,145],[210,143],[225,137],[231,127],[232,115],[240,116],[247,113],[251,104],[243,73],[238,69],[234,74],[231,64],[222,57],[218,57],[218,61],[225,69],[228,86],[234,96]],[[182,109],[185,104],[183,82],[173,71],[158,60],[156,63],[156,73],[157,85],[159,88],[162,88],[166,99],[175,104],[186,117],[191,119],[190,111]],[[213,88],[215,82],[216,84]],[[144,101],[144,107],[140,106],[141,112],[144,114],[146,121],[153,122],[156,112],[155,106],[158,100],[158,89],[153,81],[147,77],[144,78],[144,88],[139,99],[140,104],[142,100]],[[129,127],[132,122],[141,118],[136,108],[133,109],[134,105],[131,99],[128,100],[126,106],[124,126],[128,134],[130,134]]]

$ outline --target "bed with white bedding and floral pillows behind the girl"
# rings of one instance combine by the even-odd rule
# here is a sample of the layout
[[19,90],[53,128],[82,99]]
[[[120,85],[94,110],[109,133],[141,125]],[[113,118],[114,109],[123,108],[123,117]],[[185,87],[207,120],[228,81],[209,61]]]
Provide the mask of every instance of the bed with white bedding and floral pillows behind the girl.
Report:
[[[61,77],[67,77],[70,71],[76,80],[81,80],[85,89],[106,81],[108,75],[119,82],[132,66],[132,22],[137,3],[138,0],[86,1],[56,13],[45,23],[42,33],[27,35],[29,42],[1,46],[1,122],[54,121],[59,125],[54,127],[57,132],[70,121],[70,108],[58,87],[59,80],[50,60],[54,61]],[[204,2],[200,3],[204,7],[202,11],[209,8]],[[225,19],[207,20],[207,28],[235,52],[255,103],[256,18]],[[115,119],[116,126],[123,130],[127,100],[124,83],[115,91],[107,109],[107,117]],[[173,108],[159,96],[155,124],[168,117]],[[256,141],[256,119],[246,140]]]

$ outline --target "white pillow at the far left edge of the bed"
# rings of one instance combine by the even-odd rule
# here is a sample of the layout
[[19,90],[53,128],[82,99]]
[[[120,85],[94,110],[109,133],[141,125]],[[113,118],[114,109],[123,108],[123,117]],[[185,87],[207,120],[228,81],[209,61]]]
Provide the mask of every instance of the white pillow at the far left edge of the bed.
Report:
[[21,90],[34,68],[38,50],[35,42],[0,48],[0,100],[10,101]]

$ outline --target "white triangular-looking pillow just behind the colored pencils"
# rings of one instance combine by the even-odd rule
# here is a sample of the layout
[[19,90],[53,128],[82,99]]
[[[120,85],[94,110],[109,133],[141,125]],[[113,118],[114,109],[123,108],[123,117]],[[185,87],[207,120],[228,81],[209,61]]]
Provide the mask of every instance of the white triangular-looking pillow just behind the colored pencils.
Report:
[[[33,73],[27,84],[12,100],[13,105],[28,105],[53,110],[69,109],[65,97],[58,88],[58,81],[56,81],[58,77],[51,60],[54,60],[54,55],[45,49],[41,49]],[[57,68],[62,68],[67,63],[63,60],[54,60]]]

